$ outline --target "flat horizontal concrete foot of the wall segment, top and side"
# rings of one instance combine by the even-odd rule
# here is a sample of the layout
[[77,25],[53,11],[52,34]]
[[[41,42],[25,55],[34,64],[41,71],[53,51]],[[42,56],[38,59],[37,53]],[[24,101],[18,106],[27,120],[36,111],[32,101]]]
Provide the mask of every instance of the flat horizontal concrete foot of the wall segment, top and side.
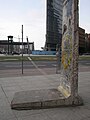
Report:
[[21,91],[15,93],[11,102],[11,108],[16,110],[42,109],[62,106],[82,105],[81,98],[72,101],[71,97],[66,99],[57,89],[43,89]]

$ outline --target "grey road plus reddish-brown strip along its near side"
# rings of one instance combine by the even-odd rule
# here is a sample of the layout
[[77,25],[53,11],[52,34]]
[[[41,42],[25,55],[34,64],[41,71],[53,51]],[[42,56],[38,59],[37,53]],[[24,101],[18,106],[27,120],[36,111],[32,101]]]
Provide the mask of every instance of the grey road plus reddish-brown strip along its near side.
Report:
[[[56,74],[56,61],[24,61],[23,75],[48,75]],[[79,72],[90,71],[90,61],[79,61]],[[60,72],[60,71],[59,71]],[[22,75],[21,62],[0,62],[0,77],[20,76]]]

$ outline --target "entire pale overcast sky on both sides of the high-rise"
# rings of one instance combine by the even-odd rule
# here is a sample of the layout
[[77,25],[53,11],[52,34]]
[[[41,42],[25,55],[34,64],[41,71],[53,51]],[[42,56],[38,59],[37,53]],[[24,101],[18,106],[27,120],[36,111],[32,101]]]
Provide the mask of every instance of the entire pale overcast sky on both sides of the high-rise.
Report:
[[[79,25],[90,33],[90,0],[80,0],[79,10]],[[0,0],[0,40],[7,39],[8,35],[21,38],[23,25],[24,38],[28,36],[35,43],[35,49],[41,49],[45,44],[45,13],[46,0]]]

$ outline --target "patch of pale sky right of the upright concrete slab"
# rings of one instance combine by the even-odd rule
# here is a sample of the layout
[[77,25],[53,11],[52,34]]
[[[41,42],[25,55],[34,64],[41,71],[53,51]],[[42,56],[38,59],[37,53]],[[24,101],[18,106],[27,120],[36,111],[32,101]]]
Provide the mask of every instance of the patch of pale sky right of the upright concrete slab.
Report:
[[79,25],[90,33],[90,0],[79,1]]

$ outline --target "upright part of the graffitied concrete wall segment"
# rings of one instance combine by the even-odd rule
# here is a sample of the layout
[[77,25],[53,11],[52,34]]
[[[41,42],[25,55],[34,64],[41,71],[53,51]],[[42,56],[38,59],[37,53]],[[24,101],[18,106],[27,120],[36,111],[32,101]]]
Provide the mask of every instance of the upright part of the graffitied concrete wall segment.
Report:
[[78,97],[78,2],[63,1],[61,77],[58,90],[66,97]]

